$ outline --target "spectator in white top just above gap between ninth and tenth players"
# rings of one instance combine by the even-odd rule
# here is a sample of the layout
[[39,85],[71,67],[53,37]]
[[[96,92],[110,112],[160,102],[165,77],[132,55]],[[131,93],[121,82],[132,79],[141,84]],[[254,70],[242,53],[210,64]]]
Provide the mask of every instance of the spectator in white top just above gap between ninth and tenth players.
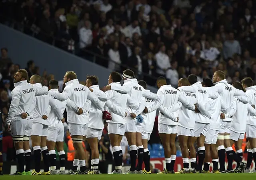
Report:
[[177,71],[178,62],[171,61],[171,67],[166,70],[166,79],[170,82],[172,87],[178,88],[179,73]]

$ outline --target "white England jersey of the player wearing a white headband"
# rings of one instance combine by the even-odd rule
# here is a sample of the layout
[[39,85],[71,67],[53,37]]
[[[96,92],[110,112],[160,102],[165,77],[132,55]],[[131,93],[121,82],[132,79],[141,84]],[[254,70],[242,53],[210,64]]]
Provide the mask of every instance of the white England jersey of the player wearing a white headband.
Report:
[[[146,91],[142,86],[140,86],[136,78],[124,80],[123,86],[120,86],[118,84],[111,84],[110,86],[111,86],[111,90],[116,90],[118,92],[128,94],[132,98],[135,104],[140,103],[142,96],[152,100],[156,100],[157,98],[156,94],[150,91]],[[128,105],[126,107],[126,111],[133,113],[136,111],[136,109]]]

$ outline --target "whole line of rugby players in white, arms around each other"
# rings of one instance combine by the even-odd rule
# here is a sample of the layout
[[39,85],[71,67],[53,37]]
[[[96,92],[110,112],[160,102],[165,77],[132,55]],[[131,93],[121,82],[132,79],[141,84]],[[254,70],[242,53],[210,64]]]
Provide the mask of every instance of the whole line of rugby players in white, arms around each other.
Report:
[[[122,78],[123,86],[120,84]],[[244,139],[245,131],[251,146],[248,158],[249,154],[250,162],[252,156],[254,160],[256,158],[256,110],[250,106],[256,104],[256,88],[252,80],[246,78],[242,81],[246,88],[244,93],[242,85],[236,84],[234,88],[228,84],[222,71],[214,73],[213,82],[215,86],[211,80],[197,82],[197,77],[191,74],[188,79],[180,79],[179,88],[175,89],[166,84],[165,78],[160,77],[157,80],[159,90],[154,94],[146,90],[146,82],[137,81],[132,70],[125,70],[122,76],[117,72],[111,72],[108,86],[105,86],[106,91],[103,92],[98,86],[96,76],[88,76],[86,86],[83,86],[79,84],[74,72],[66,72],[66,87],[59,93],[58,81],[50,81],[48,91],[47,87],[42,87],[40,76],[32,76],[28,84],[27,72],[19,70],[14,76],[15,88],[12,91],[12,102],[7,118],[7,128],[10,128],[12,133],[19,165],[18,171],[14,174],[65,174],[62,125],[65,121],[65,109],[75,148],[73,168],[68,174],[99,174],[98,140],[102,135],[104,120],[108,122],[108,134],[116,164],[111,174],[122,174],[120,142],[123,135],[127,137],[131,158],[131,168],[125,174],[150,174],[147,142],[152,133],[156,110],[160,112],[158,131],[166,161],[166,169],[160,174],[174,173],[177,133],[184,162],[184,168],[178,173],[209,173],[210,157],[214,164],[213,173],[234,172],[233,159],[238,164],[235,172],[244,172],[246,167],[241,162],[241,139]],[[203,87],[202,84],[207,87]],[[34,149],[35,169],[32,172],[29,137]],[[92,150],[90,170],[86,170],[85,166],[83,137],[88,139]],[[195,142],[198,147],[198,162]],[[56,171],[55,143],[60,155],[60,172]],[[232,149],[233,143],[239,156],[236,156]],[[228,158],[227,170],[224,166],[225,150]],[[41,153],[45,165],[42,173]],[[78,165],[80,170],[77,170]],[[248,172],[248,168],[245,171]]]

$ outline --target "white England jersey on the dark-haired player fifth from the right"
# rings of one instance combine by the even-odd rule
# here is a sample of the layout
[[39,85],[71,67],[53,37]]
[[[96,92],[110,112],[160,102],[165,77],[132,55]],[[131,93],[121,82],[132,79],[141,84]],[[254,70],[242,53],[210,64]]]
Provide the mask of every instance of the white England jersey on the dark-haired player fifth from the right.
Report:
[[196,82],[191,86],[181,86],[178,88],[178,90],[196,94],[198,110],[200,112],[194,115],[195,122],[209,124],[210,114],[208,112],[208,109],[206,108],[208,98],[212,98],[212,99],[218,98],[218,92],[212,87],[211,87],[211,90],[204,88],[201,82]]

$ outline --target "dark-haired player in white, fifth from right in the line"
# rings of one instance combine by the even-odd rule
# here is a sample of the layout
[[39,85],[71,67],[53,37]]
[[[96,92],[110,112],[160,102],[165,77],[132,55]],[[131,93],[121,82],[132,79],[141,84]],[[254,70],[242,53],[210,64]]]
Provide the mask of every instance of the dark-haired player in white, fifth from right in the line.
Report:
[[[201,82],[198,82],[197,76],[195,74],[190,74],[188,76],[188,82],[191,86],[181,86],[178,88],[180,91],[186,91],[191,93],[196,93],[198,97],[198,106],[200,109],[208,110],[207,102],[208,98],[216,99],[218,98],[218,92],[215,89],[206,89],[202,86]],[[201,112],[203,112],[201,110]],[[210,118],[211,115],[209,113],[196,113],[195,115],[195,128],[194,128],[194,136],[192,137],[192,141],[197,143],[198,148],[198,164],[196,162],[196,154],[190,153],[191,158],[191,172],[202,172],[202,166],[204,164],[205,157],[205,147],[204,141],[206,138],[206,134],[210,127]],[[189,144],[189,149],[194,148],[194,144]]]

